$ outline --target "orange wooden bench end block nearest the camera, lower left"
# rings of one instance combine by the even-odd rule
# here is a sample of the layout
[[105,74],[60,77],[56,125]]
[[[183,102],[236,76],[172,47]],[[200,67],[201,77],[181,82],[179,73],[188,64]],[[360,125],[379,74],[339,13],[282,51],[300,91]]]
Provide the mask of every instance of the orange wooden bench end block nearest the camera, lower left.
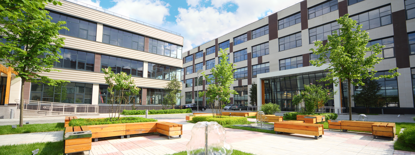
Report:
[[[70,137],[73,133],[83,132],[80,138]],[[65,128],[65,153],[77,153],[91,150],[92,135],[88,134],[88,126],[68,126]],[[84,134],[85,133],[85,134]]]

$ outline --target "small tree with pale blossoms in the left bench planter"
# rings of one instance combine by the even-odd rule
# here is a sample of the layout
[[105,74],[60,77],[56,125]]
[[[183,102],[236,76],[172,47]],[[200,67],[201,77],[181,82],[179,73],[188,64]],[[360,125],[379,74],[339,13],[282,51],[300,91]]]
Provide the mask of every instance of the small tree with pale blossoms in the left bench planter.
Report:
[[131,78],[131,75],[127,75],[125,72],[114,74],[111,67],[102,69],[102,71],[105,74],[105,83],[108,84],[107,91],[110,96],[108,101],[111,102],[109,113],[110,121],[115,121],[116,117],[116,114],[114,114],[114,104],[117,105],[115,113],[118,113],[118,117],[116,119],[116,121],[118,121],[120,119],[121,104],[124,104],[125,109],[125,106],[133,99],[131,96],[139,94],[140,88],[135,86],[135,81]]

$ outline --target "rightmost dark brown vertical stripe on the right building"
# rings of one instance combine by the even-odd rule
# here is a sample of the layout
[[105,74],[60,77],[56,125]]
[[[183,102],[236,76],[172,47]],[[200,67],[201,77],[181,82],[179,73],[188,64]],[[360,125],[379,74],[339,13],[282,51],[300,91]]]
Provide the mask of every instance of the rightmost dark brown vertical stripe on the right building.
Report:
[[392,22],[394,34],[393,39],[395,40],[396,67],[408,68],[410,67],[410,62],[405,10],[392,12]]

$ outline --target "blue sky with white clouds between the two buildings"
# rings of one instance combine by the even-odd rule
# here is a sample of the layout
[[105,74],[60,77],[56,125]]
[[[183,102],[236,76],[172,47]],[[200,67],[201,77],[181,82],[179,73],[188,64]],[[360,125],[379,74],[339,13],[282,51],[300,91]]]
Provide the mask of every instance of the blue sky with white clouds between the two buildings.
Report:
[[181,33],[183,52],[299,0],[78,0]]

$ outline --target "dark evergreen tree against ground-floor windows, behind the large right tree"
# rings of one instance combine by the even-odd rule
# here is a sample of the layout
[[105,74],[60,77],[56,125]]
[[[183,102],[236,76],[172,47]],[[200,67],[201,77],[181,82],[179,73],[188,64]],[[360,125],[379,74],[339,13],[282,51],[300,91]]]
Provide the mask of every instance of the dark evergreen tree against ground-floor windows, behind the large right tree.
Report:
[[369,107],[383,107],[386,105],[385,100],[381,99],[382,94],[379,94],[381,91],[381,84],[376,80],[371,80],[369,78],[362,79],[362,82],[365,83],[363,86],[356,86],[361,89],[359,93],[354,93],[352,95],[353,101],[356,105],[363,105],[366,107],[366,113],[369,113]]

